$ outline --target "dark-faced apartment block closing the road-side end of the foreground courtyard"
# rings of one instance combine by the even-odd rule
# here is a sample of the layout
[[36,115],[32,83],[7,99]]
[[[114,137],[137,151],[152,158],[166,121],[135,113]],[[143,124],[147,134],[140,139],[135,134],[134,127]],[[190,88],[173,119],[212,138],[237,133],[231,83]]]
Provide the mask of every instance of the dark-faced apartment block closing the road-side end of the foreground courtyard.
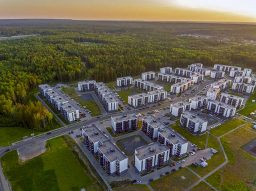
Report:
[[138,118],[136,117],[136,113],[111,117],[111,127],[116,133],[136,130],[138,127]]

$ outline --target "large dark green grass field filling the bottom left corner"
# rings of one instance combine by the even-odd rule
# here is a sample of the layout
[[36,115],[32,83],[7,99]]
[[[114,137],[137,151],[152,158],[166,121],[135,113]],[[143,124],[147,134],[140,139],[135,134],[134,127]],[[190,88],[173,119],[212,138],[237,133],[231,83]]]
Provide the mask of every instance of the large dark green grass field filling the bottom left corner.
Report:
[[50,139],[47,152],[20,164],[17,151],[1,157],[12,190],[103,190],[82,160],[70,150],[70,138]]

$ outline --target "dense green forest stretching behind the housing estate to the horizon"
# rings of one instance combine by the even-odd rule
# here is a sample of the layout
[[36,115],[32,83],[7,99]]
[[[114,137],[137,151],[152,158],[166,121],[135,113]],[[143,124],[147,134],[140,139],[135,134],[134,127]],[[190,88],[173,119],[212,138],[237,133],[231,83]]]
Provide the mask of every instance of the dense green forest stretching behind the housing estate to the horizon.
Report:
[[[216,38],[179,35],[193,32]],[[43,131],[51,123],[52,114],[27,96],[40,83],[109,82],[195,62],[256,66],[256,47],[242,42],[256,38],[250,24],[0,20],[0,36],[20,34],[40,36],[0,41],[0,126],[11,120]]]

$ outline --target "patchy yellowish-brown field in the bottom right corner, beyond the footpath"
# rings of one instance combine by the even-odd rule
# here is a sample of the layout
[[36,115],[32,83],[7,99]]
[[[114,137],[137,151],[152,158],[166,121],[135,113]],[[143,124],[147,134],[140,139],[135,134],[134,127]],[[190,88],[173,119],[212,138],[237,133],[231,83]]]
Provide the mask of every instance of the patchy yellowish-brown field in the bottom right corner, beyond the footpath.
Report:
[[255,138],[255,133],[243,128],[222,137],[229,164],[209,176],[207,181],[217,189],[222,187],[222,190],[256,190],[252,185],[256,180],[256,158],[241,149]]

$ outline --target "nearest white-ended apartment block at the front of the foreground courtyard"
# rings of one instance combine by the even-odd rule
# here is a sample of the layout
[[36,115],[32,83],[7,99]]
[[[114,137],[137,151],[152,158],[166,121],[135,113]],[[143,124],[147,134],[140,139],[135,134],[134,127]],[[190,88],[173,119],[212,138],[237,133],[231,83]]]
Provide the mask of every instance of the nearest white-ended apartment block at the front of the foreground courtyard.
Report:
[[139,174],[153,171],[156,167],[162,167],[169,161],[169,148],[160,143],[151,143],[135,149],[134,164]]

